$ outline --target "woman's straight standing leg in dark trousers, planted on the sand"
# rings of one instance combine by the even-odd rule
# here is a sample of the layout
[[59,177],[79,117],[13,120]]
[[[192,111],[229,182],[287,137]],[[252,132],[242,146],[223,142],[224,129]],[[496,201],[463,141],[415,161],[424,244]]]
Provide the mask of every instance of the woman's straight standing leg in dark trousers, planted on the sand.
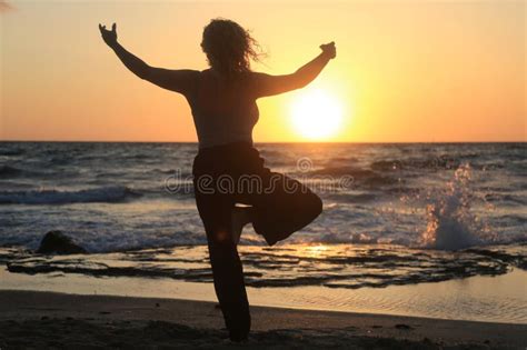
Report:
[[247,339],[250,313],[241,261],[231,238],[233,202],[225,196],[199,193],[196,202],[207,232],[215,290],[230,339]]

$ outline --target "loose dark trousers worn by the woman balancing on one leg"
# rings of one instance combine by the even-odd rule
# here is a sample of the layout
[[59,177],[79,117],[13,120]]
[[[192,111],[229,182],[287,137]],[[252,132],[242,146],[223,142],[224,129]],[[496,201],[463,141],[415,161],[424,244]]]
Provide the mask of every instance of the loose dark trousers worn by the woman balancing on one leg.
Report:
[[235,204],[252,207],[255,231],[272,246],[317,218],[322,202],[297,180],[265,168],[259,152],[246,142],[201,149],[192,174],[216,294],[230,338],[241,340],[249,333],[250,314],[241,261],[231,238]]

